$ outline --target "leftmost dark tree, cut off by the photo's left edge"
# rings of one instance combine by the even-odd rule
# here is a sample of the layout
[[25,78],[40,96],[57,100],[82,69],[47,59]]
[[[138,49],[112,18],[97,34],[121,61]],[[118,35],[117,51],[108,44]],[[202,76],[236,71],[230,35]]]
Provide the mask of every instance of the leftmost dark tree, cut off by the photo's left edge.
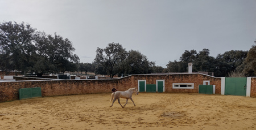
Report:
[[30,56],[35,53],[32,44],[36,29],[29,24],[11,21],[0,24],[0,58],[2,70],[26,71],[31,67]]

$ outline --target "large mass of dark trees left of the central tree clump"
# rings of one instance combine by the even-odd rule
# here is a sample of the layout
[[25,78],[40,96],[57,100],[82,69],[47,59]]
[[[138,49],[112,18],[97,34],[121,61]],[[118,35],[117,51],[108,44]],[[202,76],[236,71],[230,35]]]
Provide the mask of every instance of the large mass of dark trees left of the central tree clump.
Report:
[[0,24],[0,69],[43,73],[76,70],[79,57],[72,42],[55,33],[36,32],[30,24]]

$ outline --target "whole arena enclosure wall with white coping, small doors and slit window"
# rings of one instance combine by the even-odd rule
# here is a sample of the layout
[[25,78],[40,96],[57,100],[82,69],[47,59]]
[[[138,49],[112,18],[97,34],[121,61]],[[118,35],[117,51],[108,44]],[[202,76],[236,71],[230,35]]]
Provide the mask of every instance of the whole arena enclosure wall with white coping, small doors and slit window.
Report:
[[[111,93],[113,86],[124,91],[136,87],[139,92],[148,92],[147,88],[154,88],[155,92],[164,93],[199,93],[199,85],[214,85],[214,94],[225,93],[225,77],[214,77],[202,73],[148,74],[130,75],[118,79],[31,79],[0,82],[0,102],[19,99],[20,88],[42,89],[42,97],[67,96],[75,94]],[[247,77],[245,85],[247,97],[256,97],[256,77]]]

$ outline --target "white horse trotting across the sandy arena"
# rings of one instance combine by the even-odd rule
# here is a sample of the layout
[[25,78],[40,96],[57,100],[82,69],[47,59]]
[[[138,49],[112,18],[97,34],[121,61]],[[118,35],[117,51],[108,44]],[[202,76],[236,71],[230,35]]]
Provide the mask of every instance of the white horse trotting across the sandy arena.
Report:
[[[138,90],[136,88],[130,88],[130,89],[126,90],[125,92],[117,91],[117,92],[112,93],[111,94],[110,102],[113,100],[113,103],[112,103],[112,105],[110,107],[113,106],[115,100],[117,100],[117,99],[118,99],[118,103],[121,105],[120,98],[126,98],[125,105],[127,104],[128,99],[131,99],[131,101],[133,101],[133,99],[131,98],[133,93],[135,93],[135,95],[139,94],[139,92],[138,92]],[[133,102],[133,104],[134,104],[134,102]],[[121,105],[121,106],[125,107],[125,105],[123,105],[123,106]],[[136,105],[134,104],[134,106],[136,106]]]

